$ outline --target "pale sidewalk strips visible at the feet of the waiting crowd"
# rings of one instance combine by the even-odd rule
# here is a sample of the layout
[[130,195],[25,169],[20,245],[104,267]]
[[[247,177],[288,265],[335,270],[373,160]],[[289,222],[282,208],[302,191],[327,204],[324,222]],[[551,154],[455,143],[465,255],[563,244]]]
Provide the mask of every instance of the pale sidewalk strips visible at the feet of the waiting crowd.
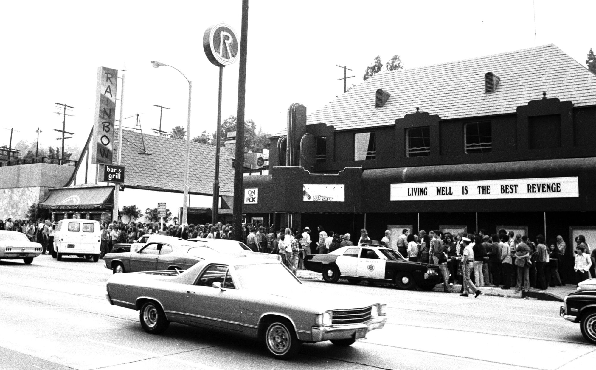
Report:
[[[311,279],[311,280],[322,280],[321,273],[312,272],[308,270],[297,270],[296,276],[300,279]],[[498,297],[508,297],[508,298],[522,298],[522,292],[516,292],[515,288],[511,288],[509,290],[503,290],[500,287],[480,287],[482,294],[485,296],[498,296]],[[451,286],[451,290],[454,293],[460,293],[461,291],[461,284],[454,284]],[[443,293],[443,284],[437,284],[434,287],[433,291]],[[537,299],[537,300],[558,300],[563,301],[563,297],[567,296],[567,294],[573,293],[577,291],[577,286],[575,284],[567,284],[564,287],[549,287],[545,291],[541,291],[538,289],[530,289],[528,293],[527,299]]]

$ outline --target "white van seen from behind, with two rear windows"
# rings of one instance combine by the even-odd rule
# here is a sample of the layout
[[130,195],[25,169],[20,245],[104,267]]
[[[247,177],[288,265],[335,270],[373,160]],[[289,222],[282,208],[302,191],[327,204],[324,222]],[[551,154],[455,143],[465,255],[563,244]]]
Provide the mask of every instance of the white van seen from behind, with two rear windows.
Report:
[[62,256],[74,255],[100,260],[100,223],[87,219],[64,219],[58,222],[54,232],[54,255],[58,261]]

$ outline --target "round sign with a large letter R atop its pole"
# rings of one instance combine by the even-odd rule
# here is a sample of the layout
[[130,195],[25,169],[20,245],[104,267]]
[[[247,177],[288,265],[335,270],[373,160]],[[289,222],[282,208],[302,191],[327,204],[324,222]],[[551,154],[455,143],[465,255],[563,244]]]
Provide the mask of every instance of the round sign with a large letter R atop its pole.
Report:
[[238,58],[238,37],[227,24],[216,24],[205,30],[203,49],[211,63],[218,67],[229,66]]

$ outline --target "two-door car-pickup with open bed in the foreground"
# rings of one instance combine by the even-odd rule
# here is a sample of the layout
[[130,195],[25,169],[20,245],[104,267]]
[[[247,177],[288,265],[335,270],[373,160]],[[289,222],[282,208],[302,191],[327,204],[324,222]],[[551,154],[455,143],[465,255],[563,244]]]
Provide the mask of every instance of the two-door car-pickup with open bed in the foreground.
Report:
[[179,322],[257,339],[278,359],[296,355],[304,342],[350,346],[387,321],[377,297],[308,288],[277,260],[222,254],[184,272],[114,274],[105,296],[139,310],[150,334]]

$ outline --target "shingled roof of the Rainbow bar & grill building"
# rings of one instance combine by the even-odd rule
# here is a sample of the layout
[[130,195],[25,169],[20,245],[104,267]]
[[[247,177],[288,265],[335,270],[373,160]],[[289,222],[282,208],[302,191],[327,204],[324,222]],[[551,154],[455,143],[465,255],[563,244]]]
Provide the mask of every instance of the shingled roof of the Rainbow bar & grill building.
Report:
[[[157,188],[184,189],[184,160],[186,141],[156,135],[142,135],[131,130],[123,130],[122,166],[126,166],[126,185],[154,186]],[[116,135],[117,137],[117,131]],[[114,142],[117,139],[114,138]],[[114,150],[114,159],[117,155]],[[219,192],[234,194],[234,169],[228,158],[234,157],[230,148],[220,148],[219,152]],[[215,146],[190,143],[188,184],[191,192],[213,194],[215,177]]]

